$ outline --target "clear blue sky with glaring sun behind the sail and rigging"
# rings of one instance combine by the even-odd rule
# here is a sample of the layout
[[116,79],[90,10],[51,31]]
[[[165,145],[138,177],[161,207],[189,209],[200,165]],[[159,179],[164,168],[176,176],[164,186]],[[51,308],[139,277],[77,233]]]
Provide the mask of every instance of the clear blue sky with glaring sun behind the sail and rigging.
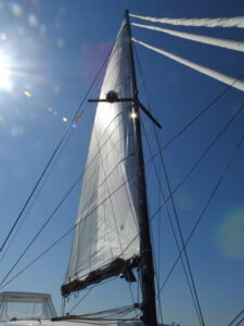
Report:
[[[177,0],[0,1],[0,61],[10,71],[10,75],[5,77],[2,71],[4,79],[0,84],[1,242],[111,49],[128,2],[132,13],[157,17],[244,15],[243,1],[227,0],[188,0],[183,4]],[[244,41],[243,28],[170,28]],[[137,39],[232,77],[244,73],[242,52],[138,27],[132,27],[132,34]],[[137,51],[150,105],[164,126],[159,135],[164,145],[227,86],[138,45]],[[139,77],[140,98],[147,105]],[[99,85],[93,96],[98,96],[98,92]],[[243,92],[230,89],[207,114],[164,151],[172,188],[242,104]],[[0,256],[0,281],[82,171],[93,114],[94,106],[86,104],[82,117],[76,123],[76,128],[72,128],[69,138],[26,215],[20,233],[4,258]],[[143,123],[152,149],[156,151],[151,122],[143,116]],[[242,112],[177,191],[175,200],[185,238],[242,138],[243,125]],[[146,146],[144,150],[146,161],[150,155]],[[189,256],[206,325],[227,325],[243,309],[243,160],[242,147],[189,244]],[[153,171],[150,164],[146,170]],[[158,205],[159,191],[155,175],[150,175],[147,190],[150,210],[153,213]],[[79,188],[80,185],[75,188],[13,275],[72,227],[77,212]],[[170,206],[169,210],[171,211]],[[165,210],[153,220],[152,225],[156,254],[159,227],[162,283],[177,255]],[[60,286],[67,266],[70,242],[72,236],[66,237],[1,290],[51,292],[56,308],[60,309]],[[103,299],[104,291],[107,293],[106,303]],[[116,304],[128,303],[128,286],[118,280],[108,284],[105,289],[98,287],[93,296],[91,293],[76,312],[100,310],[110,306],[110,303],[114,306],[117,292],[120,298]],[[79,296],[81,298],[82,293]],[[76,300],[70,298],[70,308]],[[162,302],[165,322],[175,321],[182,326],[196,325],[197,319],[180,264],[164,288]]]

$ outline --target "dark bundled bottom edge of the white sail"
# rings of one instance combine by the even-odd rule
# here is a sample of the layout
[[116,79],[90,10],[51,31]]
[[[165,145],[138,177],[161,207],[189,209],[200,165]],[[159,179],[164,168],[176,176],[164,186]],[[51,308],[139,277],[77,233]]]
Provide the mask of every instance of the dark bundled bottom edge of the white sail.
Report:
[[63,297],[67,297],[72,292],[76,292],[87,288],[90,285],[100,283],[106,278],[120,276],[127,281],[136,281],[132,268],[136,268],[140,265],[140,258],[134,256],[129,260],[124,260],[121,258],[115,259],[105,267],[101,267],[97,271],[89,273],[82,280],[75,279],[68,284],[65,284],[61,287],[61,292]]

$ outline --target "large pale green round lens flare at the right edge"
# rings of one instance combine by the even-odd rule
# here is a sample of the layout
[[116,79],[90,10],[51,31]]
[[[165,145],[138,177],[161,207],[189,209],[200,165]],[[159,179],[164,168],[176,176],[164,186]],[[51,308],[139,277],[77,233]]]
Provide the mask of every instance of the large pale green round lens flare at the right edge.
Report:
[[244,208],[230,212],[218,231],[218,246],[231,259],[244,260]]

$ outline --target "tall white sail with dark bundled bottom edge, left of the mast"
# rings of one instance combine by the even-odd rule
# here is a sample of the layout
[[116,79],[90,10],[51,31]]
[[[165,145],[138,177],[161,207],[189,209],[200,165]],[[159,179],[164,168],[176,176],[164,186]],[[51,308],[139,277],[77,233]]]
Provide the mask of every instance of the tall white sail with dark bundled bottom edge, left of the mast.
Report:
[[[100,99],[132,98],[126,23],[110,57]],[[137,152],[132,103],[99,102],[84,175],[66,284],[68,294],[138,264]]]

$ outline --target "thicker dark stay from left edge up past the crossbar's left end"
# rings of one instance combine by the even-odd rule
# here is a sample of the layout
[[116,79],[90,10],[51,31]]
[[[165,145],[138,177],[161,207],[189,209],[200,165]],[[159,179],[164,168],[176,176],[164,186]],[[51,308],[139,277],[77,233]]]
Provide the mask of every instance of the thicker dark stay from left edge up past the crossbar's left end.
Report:
[[[112,48],[112,49],[113,49],[113,48]],[[48,163],[46,164],[46,166],[44,166],[42,173],[40,174],[40,176],[39,176],[37,183],[35,184],[33,190],[30,191],[30,193],[29,193],[27,200],[25,201],[25,203],[24,203],[24,205],[23,205],[21,212],[18,213],[18,215],[17,215],[17,217],[16,217],[14,224],[12,225],[12,227],[11,227],[9,234],[7,235],[5,239],[3,240],[3,242],[2,242],[2,244],[1,244],[1,247],[0,247],[0,252],[3,250],[4,246],[7,244],[7,242],[8,242],[9,238],[10,238],[10,236],[12,235],[13,230],[15,229],[15,227],[16,227],[16,225],[17,225],[20,218],[22,217],[22,215],[23,215],[25,209],[27,208],[27,205],[28,205],[30,199],[33,198],[33,196],[34,196],[34,193],[36,192],[36,190],[37,190],[39,184],[41,183],[41,180],[42,180],[42,178],[43,178],[46,172],[48,171],[48,168],[49,168],[50,164],[52,163],[54,156],[56,155],[57,151],[60,150],[61,146],[63,145],[63,141],[65,140],[65,138],[66,138],[68,131],[72,129],[72,126],[73,126],[74,121],[76,120],[76,116],[79,114],[79,112],[80,112],[80,110],[81,110],[81,108],[82,108],[82,105],[84,105],[84,103],[85,103],[85,101],[86,101],[88,95],[90,93],[90,91],[91,91],[91,89],[93,88],[95,82],[98,80],[98,78],[99,78],[101,72],[103,71],[103,68],[104,68],[104,66],[105,66],[105,63],[106,63],[107,59],[108,59],[110,55],[111,55],[111,52],[112,52],[112,50],[108,51],[108,54],[106,55],[106,58],[105,58],[105,60],[104,60],[104,62],[103,62],[101,68],[99,70],[99,72],[98,72],[98,74],[95,75],[93,82],[91,83],[90,87],[88,88],[88,90],[87,90],[87,92],[86,92],[84,99],[81,100],[81,102],[80,102],[78,109],[76,110],[73,120],[70,121],[69,125],[67,126],[66,130],[64,131],[63,136],[61,137],[61,139],[60,139],[57,146],[55,147],[55,149],[54,149],[52,155],[50,156]],[[82,114],[84,111],[85,111],[85,109],[81,111],[80,114]]]

